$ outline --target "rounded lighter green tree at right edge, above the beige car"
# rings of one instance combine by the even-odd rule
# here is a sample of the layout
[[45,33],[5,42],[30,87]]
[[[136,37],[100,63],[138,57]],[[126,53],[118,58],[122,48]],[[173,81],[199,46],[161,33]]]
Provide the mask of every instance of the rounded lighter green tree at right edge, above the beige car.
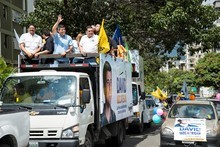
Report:
[[196,81],[200,86],[220,87],[220,53],[207,53],[195,66]]

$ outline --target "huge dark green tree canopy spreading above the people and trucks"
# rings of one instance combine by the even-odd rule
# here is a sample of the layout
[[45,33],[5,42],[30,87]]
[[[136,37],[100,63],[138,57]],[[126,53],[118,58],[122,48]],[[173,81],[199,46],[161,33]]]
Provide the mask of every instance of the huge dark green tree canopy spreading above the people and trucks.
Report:
[[[57,15],[62,14],[67,34],[84,32],[87,25],[101,23],[111,36],[120,26],[130,49],[138,49],[143,56],[146,83],[154,85],[155,75],[168,60],[167,53],[177,48],[178,57],[184,55],[188,44],[201,45],[191,52],[203,52],[219,47],[220,28],[213,22],[220,12],[203,0],[52,0],[35,1],[35,11],[24,16],[23,25],[34,23],[39,28],[51,29]],[[150,82],[150,83],[149,83]]]

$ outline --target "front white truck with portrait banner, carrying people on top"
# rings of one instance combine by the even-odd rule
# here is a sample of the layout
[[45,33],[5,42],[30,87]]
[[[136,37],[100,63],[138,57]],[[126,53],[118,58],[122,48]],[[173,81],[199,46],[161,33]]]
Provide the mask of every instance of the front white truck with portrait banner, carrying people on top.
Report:
[[[82,57],[81,54],[66,58]],[[129,62],[107,54],[87,54],[97,63],[39,64],[19,60],[19,71],[9,76],[2,91],[3,106],[23,105],[30,111],[30,147],[93,147],[99,140],[122,144],[132,111]],[[21,58],[21,56],[19,56]],[[23,57],[22,57],[23,58]],[[31,102],[13,99],[11,87],[22,83]],[[7,97],[4,97],[7,95]],[[106,98],[105,98],[106,97]]]

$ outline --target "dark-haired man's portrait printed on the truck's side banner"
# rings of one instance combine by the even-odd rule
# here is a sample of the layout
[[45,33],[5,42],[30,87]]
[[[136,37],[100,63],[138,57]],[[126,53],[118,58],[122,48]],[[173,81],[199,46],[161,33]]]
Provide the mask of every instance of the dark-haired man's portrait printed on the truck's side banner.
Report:
[[104,95],[105,104],[103,113],[101,114],[102,125],[106,125],[111,122],[116,121],[115,112],[111,108],[112,99],[112,69],[109,62],[105,62],[103,68],[103,85],[104,85]]

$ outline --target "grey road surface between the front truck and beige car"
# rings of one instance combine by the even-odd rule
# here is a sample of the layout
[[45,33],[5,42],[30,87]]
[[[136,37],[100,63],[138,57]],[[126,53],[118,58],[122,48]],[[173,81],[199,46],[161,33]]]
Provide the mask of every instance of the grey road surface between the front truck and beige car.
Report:
[[[127,133],[126,139],[121,147],[159,147],[160,144],[160,125],[152,125],[145,128],[142,134]],[[95,147],[111,147],[104,144],[97,144]]]

